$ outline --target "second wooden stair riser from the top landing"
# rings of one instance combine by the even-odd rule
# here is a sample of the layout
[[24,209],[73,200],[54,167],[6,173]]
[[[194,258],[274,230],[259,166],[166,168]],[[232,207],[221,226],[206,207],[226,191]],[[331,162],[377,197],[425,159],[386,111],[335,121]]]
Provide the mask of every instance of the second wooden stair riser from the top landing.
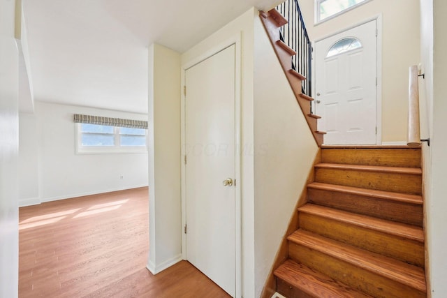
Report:
[[395,193],[421,194],[420,174],[369,172],[347,169],[315,168],[315,181],[360,188],[393,191]]

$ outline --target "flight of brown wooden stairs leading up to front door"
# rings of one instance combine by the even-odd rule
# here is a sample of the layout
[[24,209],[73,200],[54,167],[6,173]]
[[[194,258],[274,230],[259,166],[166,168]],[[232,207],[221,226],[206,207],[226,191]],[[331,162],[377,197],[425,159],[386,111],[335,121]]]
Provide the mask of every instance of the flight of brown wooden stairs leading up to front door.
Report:
[[324,147],[274,270],[293,297],[426,297],[420,148]]

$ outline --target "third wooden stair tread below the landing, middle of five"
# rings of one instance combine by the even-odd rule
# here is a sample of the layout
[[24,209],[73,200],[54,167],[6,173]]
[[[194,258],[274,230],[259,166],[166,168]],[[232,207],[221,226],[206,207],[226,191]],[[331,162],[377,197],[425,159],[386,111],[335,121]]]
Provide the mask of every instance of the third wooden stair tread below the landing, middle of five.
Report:
[[330,218],[343,223],[349,223],[351,225],[357,225],[362,228],[376,230],[386,234],[392,234],[397,237],[403,237],[422,243],[424,242],[423,229],[416,227],[415,225],[406,225],[405,223],[386,221],[372,216],[353,214],[351,212],[323,207],[316,204],[305,204],[298,208],[298,211]]

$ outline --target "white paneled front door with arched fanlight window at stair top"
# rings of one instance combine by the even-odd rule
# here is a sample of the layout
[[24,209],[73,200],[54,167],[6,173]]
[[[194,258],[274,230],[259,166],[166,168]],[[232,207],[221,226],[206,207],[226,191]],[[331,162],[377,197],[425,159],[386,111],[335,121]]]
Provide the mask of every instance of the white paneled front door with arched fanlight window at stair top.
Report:
[[315,44],[324,144],[376,144],[376,20]]

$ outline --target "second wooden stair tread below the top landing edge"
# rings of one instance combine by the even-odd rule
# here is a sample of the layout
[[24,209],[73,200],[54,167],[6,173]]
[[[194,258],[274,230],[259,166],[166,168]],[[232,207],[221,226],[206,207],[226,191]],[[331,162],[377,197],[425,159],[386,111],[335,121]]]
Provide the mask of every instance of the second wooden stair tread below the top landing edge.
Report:
[[353,186],[343,186],[336,184],[326,184],[321,182],[312,182],[307,185],[308,188],[321,189],[323,191],[336,191],[339,193],[349,193],[353,195],[368,196],[381,200],[394,200],[397,202],[405,202],[410,204],[423,204],[421,195],[410,195],[408,193],[393,193],[390,191],[379,191],[376,189],[359,188]]

